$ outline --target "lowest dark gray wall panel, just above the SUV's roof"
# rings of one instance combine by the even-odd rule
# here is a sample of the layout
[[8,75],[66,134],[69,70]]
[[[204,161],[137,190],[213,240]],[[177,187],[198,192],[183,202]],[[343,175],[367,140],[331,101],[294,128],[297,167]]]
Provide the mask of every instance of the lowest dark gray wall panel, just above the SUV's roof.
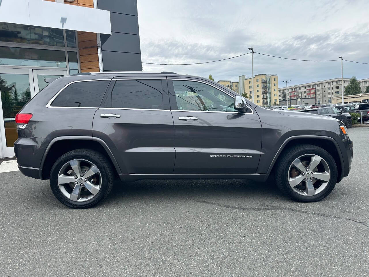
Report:
[[104,71],[142,71],[141,54],[102,51]]

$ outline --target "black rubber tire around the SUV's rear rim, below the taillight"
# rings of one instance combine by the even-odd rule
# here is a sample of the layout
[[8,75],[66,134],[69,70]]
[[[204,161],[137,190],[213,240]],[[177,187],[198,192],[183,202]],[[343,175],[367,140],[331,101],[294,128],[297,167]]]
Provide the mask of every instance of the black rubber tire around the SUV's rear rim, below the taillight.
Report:
[[[93,196],[92,199],[83,202],[72,201],[66,197],[59,189],[58,185],[58,174],[63,165],[74,159],[84,159],[90,161],[100,170],[101,174],[101,188],[99,192]],[[90,150],[90,149],[77,149],[69,151],[62,155],[52,166],[50,172],[50,187],[55,197],[62,202],[64,205],[75,208],[75,209],[85,209],[90,208],[101,200],[106,198],[113,188],[114,174],[111,168],[111,163],[107,158],[100,152]]]

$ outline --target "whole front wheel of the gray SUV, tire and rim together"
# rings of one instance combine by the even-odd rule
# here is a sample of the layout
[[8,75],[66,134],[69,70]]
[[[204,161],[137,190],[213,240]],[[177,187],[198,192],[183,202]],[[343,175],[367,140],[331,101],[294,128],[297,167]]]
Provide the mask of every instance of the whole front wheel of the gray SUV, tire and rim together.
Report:
[[337,182],[337,165],[323,148],[301,144],[286,149],[277,161],[280,191],[301,202],[325,198]]

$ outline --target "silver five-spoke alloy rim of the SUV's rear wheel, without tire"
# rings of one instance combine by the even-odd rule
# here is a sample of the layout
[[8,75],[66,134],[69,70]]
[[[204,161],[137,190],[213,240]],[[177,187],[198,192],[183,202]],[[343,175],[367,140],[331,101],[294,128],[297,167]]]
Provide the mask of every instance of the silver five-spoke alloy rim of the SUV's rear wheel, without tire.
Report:
[[68,199],[84,202],[94,198],[101,188],[101,172],[90,161],[71,160],[58,174],[58,187]]

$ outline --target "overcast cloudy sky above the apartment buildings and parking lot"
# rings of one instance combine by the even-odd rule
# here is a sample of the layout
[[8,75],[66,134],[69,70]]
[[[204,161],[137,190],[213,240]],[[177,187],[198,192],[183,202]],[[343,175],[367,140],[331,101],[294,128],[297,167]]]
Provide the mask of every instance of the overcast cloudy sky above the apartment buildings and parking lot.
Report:
[[[249,52],[369,63],[369,6],[362,1],[137,0],[142,62],[182,64]],[[251,54],[202,65],[146,65],[215,81],[251,76]],[[254,74],[299,84],[341,77],[341,61],[303,62],[254,55]],[[344,78],[369,78],[369,65],[344,61]]]

